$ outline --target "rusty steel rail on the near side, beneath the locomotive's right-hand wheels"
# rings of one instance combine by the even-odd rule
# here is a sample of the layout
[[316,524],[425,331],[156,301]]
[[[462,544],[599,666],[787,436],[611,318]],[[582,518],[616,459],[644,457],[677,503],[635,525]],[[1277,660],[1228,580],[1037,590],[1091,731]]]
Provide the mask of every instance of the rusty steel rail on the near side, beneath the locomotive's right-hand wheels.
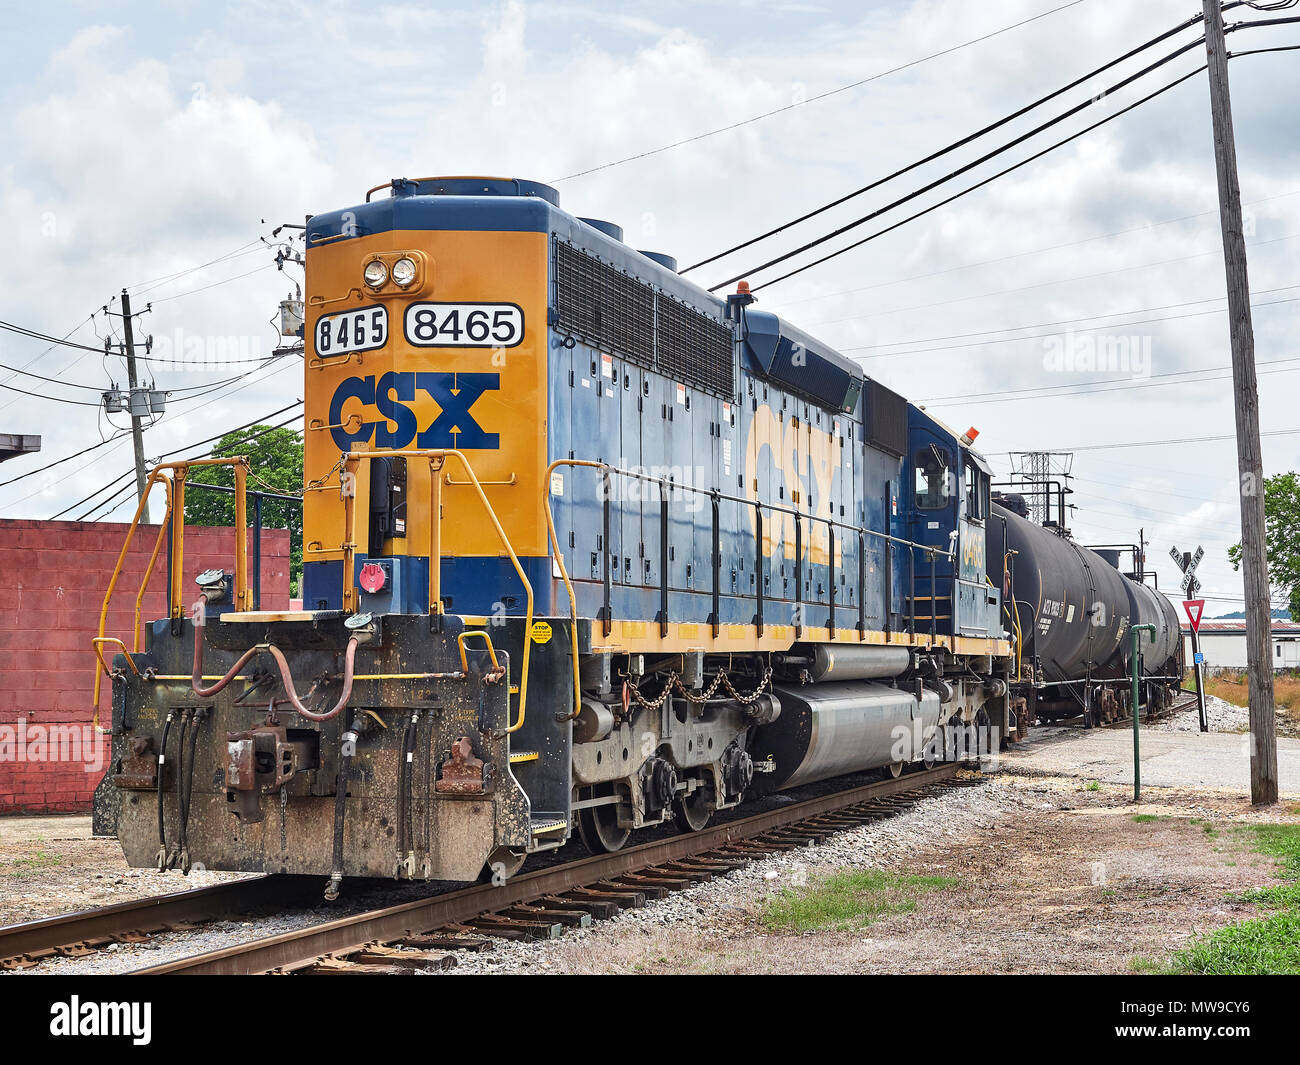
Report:
[[459,891],[402,902],[378,910],[315,925],[291,932],[240,943],[134,970],[134,975],[248,975],[273,970],[292,970],[329,954],[355,951],[368,943],[396,940],[446,925],[460,925],[485,913],[524,904],[547,895],[589,887],[610,878],[636,873],[649,866],[680,861],[729,843],[762,836],[806,818],[827,814],[858,802],[913,792],[949,780],[957,763],[904,774],[892,780],[846,788],[725,822],[699,832],[671,836],[612,854],[598,854],[576,862],[540,869],[507,880],[503,886],[476,884]]

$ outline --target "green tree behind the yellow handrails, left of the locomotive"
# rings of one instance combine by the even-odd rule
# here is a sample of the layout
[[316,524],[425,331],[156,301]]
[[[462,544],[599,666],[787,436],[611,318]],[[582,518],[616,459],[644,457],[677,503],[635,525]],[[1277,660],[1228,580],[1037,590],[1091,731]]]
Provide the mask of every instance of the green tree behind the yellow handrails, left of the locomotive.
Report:
[[[252,495],[257,489],[300,495],[303,490],[303,438],[292,429],[252,425],[226,433],[212,449],[212,458],[248,456],[248,528],[252,528]],[[233,488],[234,469],[229,466],[199,466],[190,471],[187,484]],[[186,525],[234,525],[235,499],[229,492],[185,493]],[[296,596],[303,575],[303,508],[300,503],[265,499],[261,505],[264,529],[289,529],[289,586]],[[250,558],[250,566],[252,559]]]

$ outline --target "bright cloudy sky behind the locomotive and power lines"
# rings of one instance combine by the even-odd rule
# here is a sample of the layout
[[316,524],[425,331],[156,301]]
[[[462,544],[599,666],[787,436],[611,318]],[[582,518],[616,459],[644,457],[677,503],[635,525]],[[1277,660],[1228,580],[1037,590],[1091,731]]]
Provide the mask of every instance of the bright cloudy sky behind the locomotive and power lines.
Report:
[[[296,280],[259,242],[281,222],[358,203],[394,176],[507,174],[549,181],[573,213],[618,221],[637,247],[693,263],[924,157],[1200,10],[1196,0],[1079,0],[1053,12],[1062,4],[25,5],[5,16],[0,70],[0,319],[100,348],[121,332],[103,308],[118,311],[109,300],[125,286],[135,309],[152,303],[138,333],[159,351],[242,338],[243,351],[226,355],[239,362],[205,373],[151,364],[173,390],[146,434],[156,456],[300,398],[300,362],[257,362],[278,342],[269,320]],[[1258,17],[1238,8],[1228,21]],[[1034,21],[1006,29],[1024,20]],[[1200,49],[1105,92],[1195,38],[1187,30],[939,163],[690,276],[712,285],[746,272],[758,286],[788,268],[754,269],[775,255],[1096,98],[788,265],[870,235],[1193,70]],[[1234,34],[1230,48],[1297,42],[1300,26],[1256,29]],[[1260,420],[1266,433],[1291,433],[1265,437],[1266,472],[1300,459],[1297,56],[1232,62]],[[1130,542],[1144,528],[1169,589],[1170,545],[1202,544],[1205,592],[1223,597],[1208,612],[1226,612],[1240,606],[1240,579],[1226,563],[1239,515],[1216,204],[1200,74],[771,285],[760,307],[954,427],[979,428],[998,471],[1010,453],[1074,450],[1078,537]],[[1092,367],[1097,352],[1114,365]],[[0,481],[114,432],[95,402],[125,382],[120,359],[0,333],[0,432],[44,441],[40,456],[0,468]],[[112,441],[0,486],[0,507],[49,518],[130,463],[129,437]],[[121,503],[94,514],[129,518],[130,493],[99,498]]]

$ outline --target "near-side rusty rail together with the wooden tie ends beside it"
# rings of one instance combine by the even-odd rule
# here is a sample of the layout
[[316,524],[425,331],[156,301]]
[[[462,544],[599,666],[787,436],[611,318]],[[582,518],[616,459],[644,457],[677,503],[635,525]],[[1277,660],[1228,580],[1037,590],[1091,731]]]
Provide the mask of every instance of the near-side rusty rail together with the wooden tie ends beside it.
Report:
[[701,832],[520,874],[339,918],[220,951],[168,961],[139,974],[413,973],[450,969],[463,951],[500,939],[551,939],[623,909],[640,908],[770,854],[894,817],[957,780],[957,766],[905,774],[792,802]]

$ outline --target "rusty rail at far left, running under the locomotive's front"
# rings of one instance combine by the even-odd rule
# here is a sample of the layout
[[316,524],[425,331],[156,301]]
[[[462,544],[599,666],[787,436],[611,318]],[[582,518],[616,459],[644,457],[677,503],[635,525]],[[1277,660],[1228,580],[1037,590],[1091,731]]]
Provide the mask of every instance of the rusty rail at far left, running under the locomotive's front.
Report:
[[205,921],[318,897],[318,876],[255,876],[6,925],[0,927],[0,970],[30,969],[52,957],[84,957],[114,943],[147,943],[159,932],[190,931]]

